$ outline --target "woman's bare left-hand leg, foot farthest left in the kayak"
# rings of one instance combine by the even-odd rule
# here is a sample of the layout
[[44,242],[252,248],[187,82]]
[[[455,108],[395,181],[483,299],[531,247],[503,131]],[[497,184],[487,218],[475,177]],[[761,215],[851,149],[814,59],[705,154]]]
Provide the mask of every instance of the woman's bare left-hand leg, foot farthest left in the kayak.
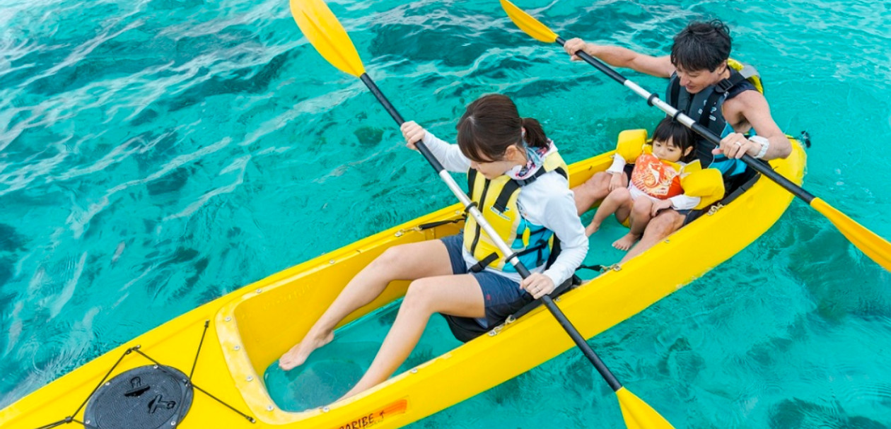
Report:
[[440,240],[390,247],[369,263],[331,303],[298,344],[279,359],[284,370],[298,367],[309,354],[334,339],[334,327],[349,313],[371,303],[393,280],[413,280],[452,273],[446,245]]

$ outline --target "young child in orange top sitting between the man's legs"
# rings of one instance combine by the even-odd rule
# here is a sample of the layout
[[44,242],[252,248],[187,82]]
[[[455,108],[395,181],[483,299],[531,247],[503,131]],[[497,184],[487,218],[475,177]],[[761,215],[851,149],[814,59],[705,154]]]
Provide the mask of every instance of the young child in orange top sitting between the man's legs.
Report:
[[693,158],[694,134],[682,124],[666,117],[656,126],[651,144],[643,145],[643,153],[634,160],[634,170],[628,187],[622,186],[627,160],[618,152],[613,165],[607,169],[609,195],[597,208],[591,224],[585,228],[590,236],[596,232],[609,214],[616,214],[620,223],[630,218],[630,231],[613,242],[613,247],[628,250],[638,239],[650,219],[659,210],[689,210],[699,204],[699,197],[683,193],[681,178],[684,167]]

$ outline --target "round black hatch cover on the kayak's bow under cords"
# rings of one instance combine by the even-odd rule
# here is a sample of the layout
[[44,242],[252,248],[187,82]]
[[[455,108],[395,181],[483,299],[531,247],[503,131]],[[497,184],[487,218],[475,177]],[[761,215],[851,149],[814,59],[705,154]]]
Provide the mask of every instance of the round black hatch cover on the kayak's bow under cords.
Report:
[[192,384],[187,379],[171,367],[129,369],[102,384],[90,397],[84,423],[99,429],[176,427],[192,406]]

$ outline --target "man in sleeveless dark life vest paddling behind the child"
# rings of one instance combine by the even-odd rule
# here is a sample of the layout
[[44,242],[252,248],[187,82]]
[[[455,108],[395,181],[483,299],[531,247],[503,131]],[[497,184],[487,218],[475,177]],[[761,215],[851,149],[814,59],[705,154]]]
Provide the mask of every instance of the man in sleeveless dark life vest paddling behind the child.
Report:
[[[579,60],[576,52],[584,51],[613,67],[670,79],[666,101],[722,137],[721,146],[714,150],[700,139],[696,152],[703,166],[721,170],[728,185],[745,173],[746,165],[740,160],[744,154],[767,160],[786,158],[791,153],[789,139],[773,121],[764,94],[751,82],[755,80],[751,76],[756,76],[754,69],[737,71],[729,64],[731,37],[720,20],[691,22],[674,36],[671,54],[660,57],[618,46],[588,44],[579,38],[568,40],[564,47],[573,61]],[[744,135],[751,130],[755,135]],[[608,173],[594,174],[573,189],[579,214],[606,198],[610,179]],[[625,174],[620,179],[627,186]],[[659,212],[620,263],[653,247],[701,213],[673,209]]]

